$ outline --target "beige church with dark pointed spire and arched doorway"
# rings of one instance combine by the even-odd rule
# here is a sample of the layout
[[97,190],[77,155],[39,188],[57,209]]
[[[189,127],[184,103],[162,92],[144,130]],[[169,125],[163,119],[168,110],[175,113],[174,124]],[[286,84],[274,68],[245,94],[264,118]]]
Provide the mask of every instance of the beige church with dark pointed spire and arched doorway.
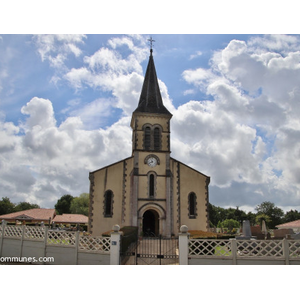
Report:
[[89,232],[137,226],[140,235],[177,236],[181,225],[207,231],[210,177],[172,158],[170,120],[150,56],[132,113],[132,156],[90,172]]

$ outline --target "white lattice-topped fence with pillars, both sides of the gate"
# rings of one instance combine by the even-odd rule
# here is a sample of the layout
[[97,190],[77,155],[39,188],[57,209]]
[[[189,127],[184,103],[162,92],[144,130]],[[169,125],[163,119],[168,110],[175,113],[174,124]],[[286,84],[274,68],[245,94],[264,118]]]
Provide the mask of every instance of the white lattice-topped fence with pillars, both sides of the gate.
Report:
[[[31,263],[56,265],[120,263],[118,225],[111,237],[81,236],[78,231],[53,231],[47,227],[2,224],[0,229],[0,263],[6,263],[5,258],[31,258]],[[190,239],[183,225],[179,264],[300,265],[300,240]]]

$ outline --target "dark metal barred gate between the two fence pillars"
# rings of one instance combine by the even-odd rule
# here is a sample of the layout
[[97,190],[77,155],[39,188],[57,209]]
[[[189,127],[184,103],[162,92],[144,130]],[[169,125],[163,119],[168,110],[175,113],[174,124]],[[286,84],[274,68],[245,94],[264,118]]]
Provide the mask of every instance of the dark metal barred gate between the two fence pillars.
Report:
[[139,237],[127,252],[125,264],[177,265],[179,263],[178,238]]

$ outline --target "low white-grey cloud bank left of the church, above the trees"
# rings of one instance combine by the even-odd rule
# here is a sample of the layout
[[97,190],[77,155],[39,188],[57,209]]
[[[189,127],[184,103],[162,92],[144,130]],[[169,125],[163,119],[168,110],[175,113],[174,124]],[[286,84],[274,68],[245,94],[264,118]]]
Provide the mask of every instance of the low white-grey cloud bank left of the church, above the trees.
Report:
[[[98,104],[96,101],[90,108],[97,109]],[[131,154],[128,117],[107,129],[86,130],[79,116],[67,118],[58,127],[51,101],[37,97],[22,113],[28,115],[21,125],[23,135],[18,135],[22,128],[12,123],[0,126],[4,138],[0,144],[0,187],[3,196],[15,202],[53,207],[64,193],[76,196],[88,192],[89,171]]]

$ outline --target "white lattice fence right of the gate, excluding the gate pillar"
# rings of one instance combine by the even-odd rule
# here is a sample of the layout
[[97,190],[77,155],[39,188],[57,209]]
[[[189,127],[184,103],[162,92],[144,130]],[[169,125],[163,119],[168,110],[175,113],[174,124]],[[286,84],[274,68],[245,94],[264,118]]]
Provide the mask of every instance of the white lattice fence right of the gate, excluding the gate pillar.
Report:
[[299,240],[189,239],[189,264],[300,264]]

